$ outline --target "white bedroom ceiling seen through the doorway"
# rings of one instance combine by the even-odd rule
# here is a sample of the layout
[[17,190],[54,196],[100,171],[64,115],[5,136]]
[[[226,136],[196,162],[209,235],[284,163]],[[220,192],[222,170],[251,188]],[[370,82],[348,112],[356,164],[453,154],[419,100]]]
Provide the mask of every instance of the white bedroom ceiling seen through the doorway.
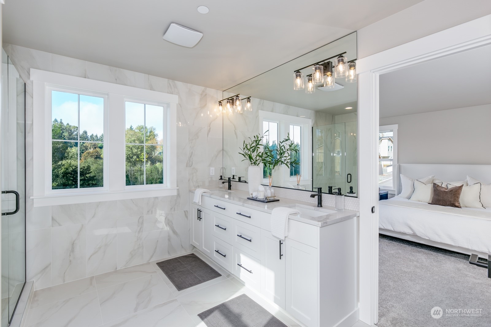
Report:
[[380,76],[380,118],[491,103],[491,46]]

